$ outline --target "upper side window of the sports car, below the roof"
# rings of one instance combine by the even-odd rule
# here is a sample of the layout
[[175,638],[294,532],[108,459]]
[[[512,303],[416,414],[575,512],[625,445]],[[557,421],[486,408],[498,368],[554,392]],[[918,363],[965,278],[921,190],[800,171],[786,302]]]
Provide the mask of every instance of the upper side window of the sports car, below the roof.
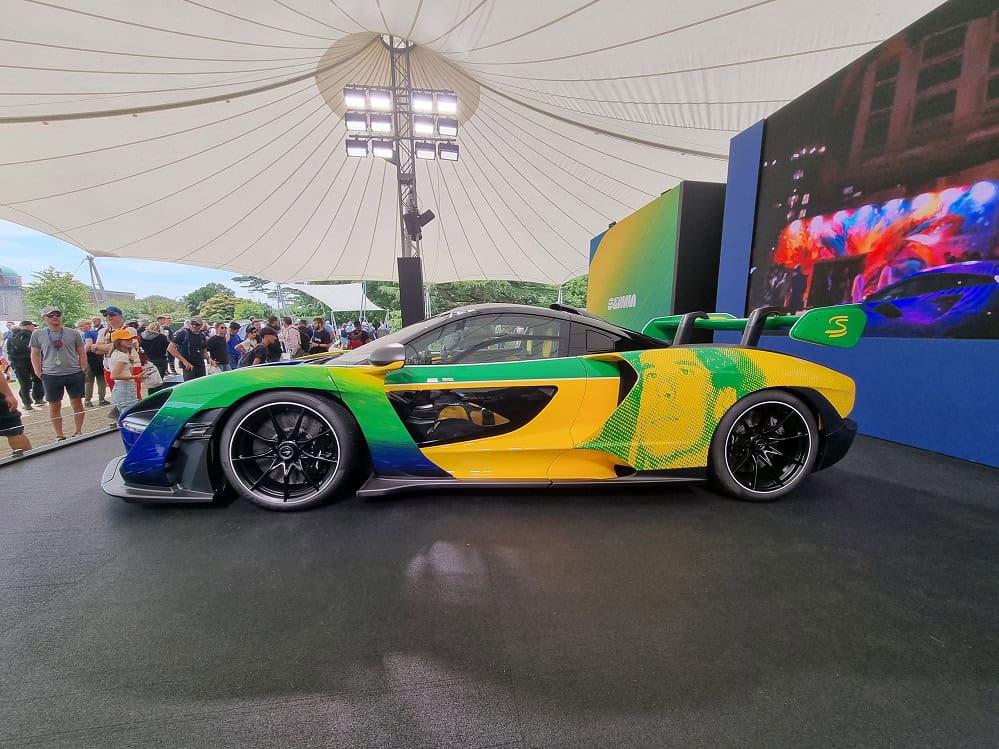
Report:
[[561,320],[540,315],[462,317],[406,346],[407,364],[482,364],[566,356]]

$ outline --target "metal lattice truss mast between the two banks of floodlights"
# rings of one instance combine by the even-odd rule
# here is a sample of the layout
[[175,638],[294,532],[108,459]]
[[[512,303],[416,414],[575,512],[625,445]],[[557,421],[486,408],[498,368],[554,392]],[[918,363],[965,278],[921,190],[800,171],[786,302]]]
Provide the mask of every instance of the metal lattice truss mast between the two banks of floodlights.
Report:
[[410,102],[412,85],[410,79],[409,50],[412,43],[408,39],[389,35],[388,48],[391,56],[391,85],[393,124],[396,142],[396,176],[399,186],[399,231],[402,236],[402,257],[417,257],[420,254],[420,240],[410,237],[406,231],[406,213],[419,210],[416,202],[416,149],[413,137],[413,108]]

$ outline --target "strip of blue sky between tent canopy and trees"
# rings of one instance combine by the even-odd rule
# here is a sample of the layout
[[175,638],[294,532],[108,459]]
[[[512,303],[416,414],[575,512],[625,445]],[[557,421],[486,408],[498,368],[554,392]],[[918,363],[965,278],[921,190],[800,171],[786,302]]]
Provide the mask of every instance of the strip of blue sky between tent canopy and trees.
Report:
[[[0,220],[0,265],[10,266],[20,273],[25,286],[35,280],[33,274],[50,265],[57,270],[70,271],[80,281],[90,285],[90,268],[83,250],[61,239],[3,220]],[[176,299],[207,283],[216,282],[225,284],[237,296],[266,301],[234,283],[234,274],[194,265],[99,257],[97,270],[105,289],[130,291],[140,298],[161,294]]]

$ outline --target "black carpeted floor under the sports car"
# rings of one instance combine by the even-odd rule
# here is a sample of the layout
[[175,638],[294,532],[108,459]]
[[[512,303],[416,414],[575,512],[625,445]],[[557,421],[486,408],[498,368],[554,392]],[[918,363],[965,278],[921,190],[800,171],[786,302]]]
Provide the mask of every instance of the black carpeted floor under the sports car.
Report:
[[999,745],[999,471],[144,508],[0,469],[10,747]]

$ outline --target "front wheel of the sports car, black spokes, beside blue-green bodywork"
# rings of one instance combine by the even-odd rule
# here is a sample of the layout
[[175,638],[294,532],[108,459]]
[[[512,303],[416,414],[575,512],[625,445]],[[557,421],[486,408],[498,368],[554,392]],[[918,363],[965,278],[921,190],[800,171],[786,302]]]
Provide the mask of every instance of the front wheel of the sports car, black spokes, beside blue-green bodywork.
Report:
[[232,412],[218,454],[240,496],[268,510],[306,510],[353,488],[364,442],[342,406],[300,391],[271,391]]

